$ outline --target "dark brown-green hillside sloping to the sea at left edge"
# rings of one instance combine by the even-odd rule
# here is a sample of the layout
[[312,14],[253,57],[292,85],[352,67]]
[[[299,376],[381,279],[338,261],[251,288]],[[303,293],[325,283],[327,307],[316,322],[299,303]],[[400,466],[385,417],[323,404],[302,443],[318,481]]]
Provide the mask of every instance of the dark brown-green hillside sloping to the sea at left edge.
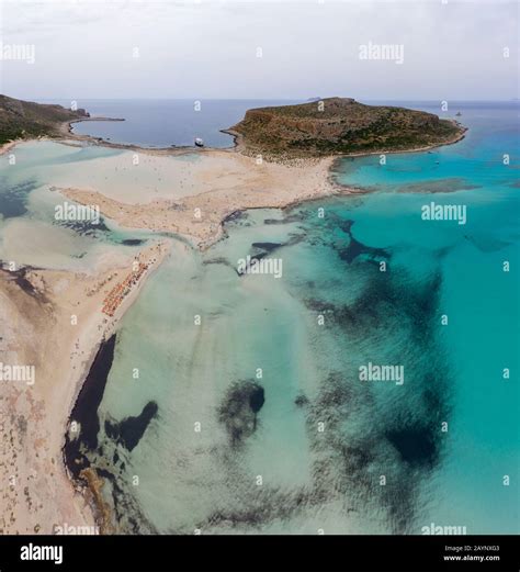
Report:
[[59,135],[63,123],[88,116],[82,109],[71,111],[61,105],[34,103],[0,94],[0,144]]

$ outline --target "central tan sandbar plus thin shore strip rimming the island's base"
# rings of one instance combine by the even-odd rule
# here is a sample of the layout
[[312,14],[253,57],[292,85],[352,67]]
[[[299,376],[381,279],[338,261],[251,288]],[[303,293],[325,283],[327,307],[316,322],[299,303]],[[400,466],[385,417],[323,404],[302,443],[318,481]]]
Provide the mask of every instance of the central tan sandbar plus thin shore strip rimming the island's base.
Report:
[[[90,119],[90,120],[93,120]],[[81,120],[80,120],[81,121]],[[101,121],[101,120],[100,120]],[[169,197],[160,194],[145,200],[123,194],[121,190],[100,193],[98,189],[60,189],[80,204],[97,204],[102,214],[129,228],[173,232],[188,237],[201,249],[208,248],[223,235],[223,221],[231,213],[247,209],[286,208],[331,194],[360,194],[366,190],[337,184],[331,173],[341,157],[381,155],[382,153],[420,153],[443,145],[452,145],[465,137],[466,128],[451,120],[462,131],[442,145],[408,150],[330,155],[324,158],[284,159],[249,156],[242,135],[222,130],[234,137],[234,148],[213,149],[171,147],[161,149],[122,145],[72,133],[71,123],[64,123],[61,132],[70,141],[90,142],[109,148],[145,155],[147,161],[165,157],[199,155],[199,160],[176,161],[166,175],[172,181]],[[123,159],[124,160],[124,159]],[[128,161],[127,161],[128,164]],[[124,165],[120,165],[124,169]],[[156,170],[158,165],[156,167]],[[143,193],[145,194],[145,193]],[[124,199],[123,199],[124,197]]]

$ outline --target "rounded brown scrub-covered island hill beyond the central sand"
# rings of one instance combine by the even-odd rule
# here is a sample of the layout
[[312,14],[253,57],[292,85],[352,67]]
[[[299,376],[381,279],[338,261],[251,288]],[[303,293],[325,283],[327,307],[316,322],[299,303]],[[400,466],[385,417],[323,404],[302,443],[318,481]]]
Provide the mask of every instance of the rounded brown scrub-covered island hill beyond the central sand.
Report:
[[343,98],[252,109],[227,131],[246,153],[287,157],[434,147],[457,141],[464,132],[432,113]]

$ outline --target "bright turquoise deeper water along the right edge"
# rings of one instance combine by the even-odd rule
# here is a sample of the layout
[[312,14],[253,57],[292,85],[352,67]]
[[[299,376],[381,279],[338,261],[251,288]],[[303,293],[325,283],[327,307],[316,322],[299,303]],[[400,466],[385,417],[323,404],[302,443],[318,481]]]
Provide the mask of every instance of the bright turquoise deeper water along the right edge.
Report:
[[[515,374],[502,379],[502,368],[519,367],[518,115],[515,109],[494,111],[489,136],[488,117],[475,113],[466,119],[467,138],[454,147],[412,160],[389,157],[386,168],[362,159],[343,166],[339,176],[381,191],[351,210],[359,240],[389,248],[394,265],[414,273],[442,273],[439,312],[450,322],[440,335],[453,375],[452,411],[446,458],[432,475],[428,511],[436,524],[466,524],[468,531],[490,534],[515,532],[519,525],[513,501],[519,393]],[[509,166],[502,165],[504,153],[511,155]],[[428,198],[397,194],[443,178],[475,188]],[[430,199],[466,204],[466,225],[421,221],[417,214]],[[502,271],[505,260],[511,262],[509,273]],[[502,485],[506,474],[517,474],[509,487]]]

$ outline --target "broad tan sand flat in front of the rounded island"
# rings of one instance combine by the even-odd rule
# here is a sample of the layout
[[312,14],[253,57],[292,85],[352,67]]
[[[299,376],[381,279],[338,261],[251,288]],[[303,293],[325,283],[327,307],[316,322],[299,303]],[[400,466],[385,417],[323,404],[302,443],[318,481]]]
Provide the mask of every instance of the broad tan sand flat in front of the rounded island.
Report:
[[123,202],[117,189],[112,197],[87,189],[59,190],[78,203],[99,205],[104,216],[122,226],[173,232],[204,249],[222,236],[222,222],[236,211],[285,208],[352,192],[331,181],[332,161],[327,157],[267,162],[213,149],[196,161],[172,161],[172,180],[182,180],[183,188],[181,193],[172,189],[171,198]]

